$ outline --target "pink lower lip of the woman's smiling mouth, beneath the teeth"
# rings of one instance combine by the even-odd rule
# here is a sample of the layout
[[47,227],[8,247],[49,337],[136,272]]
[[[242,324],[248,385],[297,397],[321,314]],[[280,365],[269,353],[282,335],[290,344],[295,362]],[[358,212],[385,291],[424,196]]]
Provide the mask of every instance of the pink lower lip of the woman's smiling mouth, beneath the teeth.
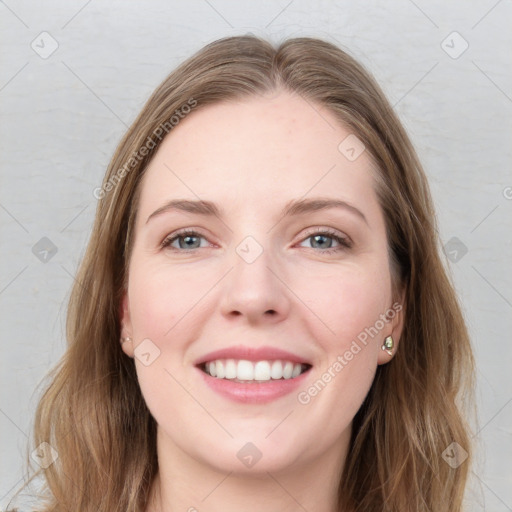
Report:
[[205,383],[213,389],[213,391],[235,402],[246,404],[263,404],[288,395],[304,383],[310,370],[311,368],[294,379],[276,379],[244,384],[228,379],[212,377],[197,368],[197,371],[201,373]]

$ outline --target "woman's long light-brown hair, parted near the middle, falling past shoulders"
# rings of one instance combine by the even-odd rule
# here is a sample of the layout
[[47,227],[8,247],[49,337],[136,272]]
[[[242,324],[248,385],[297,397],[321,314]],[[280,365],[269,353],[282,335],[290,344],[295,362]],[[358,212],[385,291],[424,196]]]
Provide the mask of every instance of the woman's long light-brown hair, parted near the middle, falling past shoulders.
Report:
[[[96,219],[69,302],[68,349],[35,419],[35,445],[47,442],[59,455],[40,470],[46,482],[41,510],[145,510],[158,471],[156,425],[134,361],[119,343],[138,184],[163,136],[172,132],[176,111],[278,88],[328,108],[366,146],[377,172],[395,298],[405,293],[399,350],[378,367],[354,418],[339,510],[462,509],[472,454],[464,405],[472,397],[474,362],[411,142],[379,86],[338,47],[297,38],[275,48],[242,36],[207,45],[165,79],[95,192]],[[458,467],[443,458],[453,442],[470,456]]]

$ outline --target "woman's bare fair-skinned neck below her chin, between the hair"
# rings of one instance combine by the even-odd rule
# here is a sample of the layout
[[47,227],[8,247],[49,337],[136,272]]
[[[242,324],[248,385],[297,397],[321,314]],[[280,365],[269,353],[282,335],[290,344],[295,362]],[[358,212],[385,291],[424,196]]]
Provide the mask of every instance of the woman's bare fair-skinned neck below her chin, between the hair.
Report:
[[190,457],[160,432],[159,471],[146,512],[338,512],[338,487],[350,429],[314,460],[279,471],[222,472]]

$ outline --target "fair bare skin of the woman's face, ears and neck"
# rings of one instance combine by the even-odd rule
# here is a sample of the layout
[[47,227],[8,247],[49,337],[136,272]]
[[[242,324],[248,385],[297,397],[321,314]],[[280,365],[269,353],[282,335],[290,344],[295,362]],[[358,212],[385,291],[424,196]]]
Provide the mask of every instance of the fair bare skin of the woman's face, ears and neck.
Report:
[[[199,105],[151,161],[121,315],[123,336],[133,338],[123,343],[126,354],[134,357],[144,339],[160,351],[148,366],[135,357],[158,424],[159,473],[148,511],[335,510],[353,417],[377,366],[393,357],[381,350],[384,338],[393,336],[394,354],[403,324],[396,314],[333,372],[338,356],[394,302],[371,159],[365,151],[351,162],[338,150],[350,133],[325,108],[278,91]],[[346,201],[366,221],[346,208],[280,217],[289,201],[317,197]],[[223,216],[170,210],[147,221],[178,198],[215,202]],[[182,228],[204,237],[193,240],[199,248],[180,248],[183,239],[161,247]],[[333,238],[319,245],[316,228],[351,248]],[[252,263],[236,252],[247,236],[263,249]],[[239,344],[309,360],[298,391],[330,367],[335,376],[307,404],[297,392],[236,403],[206,386],[194,362]],[[250,468],[236,456],[248,442],[262,453]]]

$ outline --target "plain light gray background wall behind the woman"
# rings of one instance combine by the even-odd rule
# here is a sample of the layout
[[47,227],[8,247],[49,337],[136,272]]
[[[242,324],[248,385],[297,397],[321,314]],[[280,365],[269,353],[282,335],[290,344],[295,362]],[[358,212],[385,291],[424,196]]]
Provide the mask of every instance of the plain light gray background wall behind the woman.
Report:
[[[512,510],[511,22],[510,0],[0,2],[0,507],[22,482],[37,386],[65,347],[92,191],[117,142],[179,62],[252,32],[348,49],[395,105],[430,179],[477,358],[468,510]],[[55,254],[40,252],[43,237]]]

